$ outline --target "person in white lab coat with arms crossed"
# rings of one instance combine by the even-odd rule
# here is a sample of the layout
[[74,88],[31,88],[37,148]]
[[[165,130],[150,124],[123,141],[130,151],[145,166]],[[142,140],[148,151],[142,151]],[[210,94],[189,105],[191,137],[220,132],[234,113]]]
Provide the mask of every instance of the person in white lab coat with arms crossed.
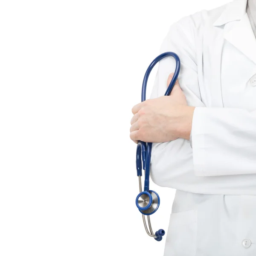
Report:
[[256,0],[183,17],[160,49],[130,137],[154,142],[151,179],[176,189],[164,256],[256,255]]

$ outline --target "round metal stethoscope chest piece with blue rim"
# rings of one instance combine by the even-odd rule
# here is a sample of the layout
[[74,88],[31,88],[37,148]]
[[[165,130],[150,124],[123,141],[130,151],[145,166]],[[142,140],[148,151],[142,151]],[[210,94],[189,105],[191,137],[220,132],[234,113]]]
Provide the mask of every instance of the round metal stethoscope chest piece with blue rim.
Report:
[[153,190],[143,191],[137,195],[136,205],[139,211],[144,215],[151,215],[157,211],[160,204],[160,198],[157,192]]

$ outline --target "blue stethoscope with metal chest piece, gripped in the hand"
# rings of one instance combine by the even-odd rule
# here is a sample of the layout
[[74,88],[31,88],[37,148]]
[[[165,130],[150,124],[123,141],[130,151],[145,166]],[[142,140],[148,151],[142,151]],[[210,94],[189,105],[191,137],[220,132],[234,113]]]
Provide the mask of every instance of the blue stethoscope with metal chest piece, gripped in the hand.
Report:
[[[142,102],[146,100],[146,87],[147,87],[148,77],[151,70],[153,69],[155,64],[157,64],[158,61],[168,56],[174,57],[176,61],[175,73],[173,75],[172,81],[170,82],[166,90],[166,93],[164,94],[165,96],[170,95],[172,88],[174,87],[175,82],[180,73],[180,58],[174,52],[163,52],[162,54],[157,56],[157,58],[155,58],[154,61],[151,62],[148,69],[146,70],[146,73],[143,79],[143,84],[142,84],[142,93],[141,93]],[[143,224],[148,236],[154,237],[154,239],[157,241],[161,241],[165,234],[165,231],[160,229],[156,233],[154,233],[152,230],[151,221],[150,221],[150,215],[157,211],[160,204],[159,195],[153,190],[149,190],[151,149],[152,149],[151,142],[145,143],[140,140],[138,141],[137,151],[136,151],[136,169],[137,169],[137,176],[139,177],[140,194],[136,198],[136,206],[138,207],[139,211],[142,213]],[[142,169],[145,171],[144,172],[145,174],[144,191],[142,191],[142,185],[141,185]],[[148,227],[145,221],[145,215],[147,215],[147,218],[148,218]]]

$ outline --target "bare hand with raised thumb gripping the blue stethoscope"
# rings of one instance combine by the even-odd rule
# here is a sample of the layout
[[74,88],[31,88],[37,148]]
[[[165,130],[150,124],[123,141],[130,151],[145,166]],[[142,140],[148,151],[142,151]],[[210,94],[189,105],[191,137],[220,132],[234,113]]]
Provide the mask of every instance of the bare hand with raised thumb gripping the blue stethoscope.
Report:
[[[168,77],[169,86],[173,73]],[[132,108],[130,138],[135,143],[161,143],[182,137],[189,140],[195,107],[187,105],[178,79],[170,96],[140,102]]]

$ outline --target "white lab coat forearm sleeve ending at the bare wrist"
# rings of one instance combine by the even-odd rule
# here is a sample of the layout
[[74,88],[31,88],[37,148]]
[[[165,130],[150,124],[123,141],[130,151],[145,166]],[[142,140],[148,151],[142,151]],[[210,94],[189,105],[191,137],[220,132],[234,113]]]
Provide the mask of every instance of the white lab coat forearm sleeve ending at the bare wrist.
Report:
[[256,174],[256,111],[195,108],[191,135],[195,175]]

